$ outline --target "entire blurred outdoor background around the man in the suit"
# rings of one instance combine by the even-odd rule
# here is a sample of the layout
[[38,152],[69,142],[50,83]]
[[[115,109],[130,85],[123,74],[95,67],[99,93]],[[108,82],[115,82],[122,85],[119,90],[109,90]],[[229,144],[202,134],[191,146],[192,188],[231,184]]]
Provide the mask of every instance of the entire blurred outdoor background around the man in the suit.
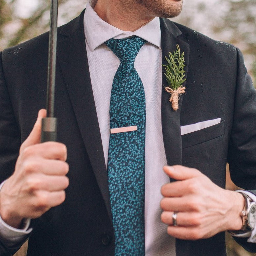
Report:
[[[78,16],[86,0],[59,0],[58,25]],[[0,0],[0,50],[48,31],[49,0]],[[180,16],[172,19],[243,52],[245,65],[256,84],[256,1],[184,0]],[[229,178],[227,188],[236,189]],[[25,255],[26,245],[17,255]],[[228,256],[249,256],[227,234]],[[217,255],[216,255],[217,256]]]

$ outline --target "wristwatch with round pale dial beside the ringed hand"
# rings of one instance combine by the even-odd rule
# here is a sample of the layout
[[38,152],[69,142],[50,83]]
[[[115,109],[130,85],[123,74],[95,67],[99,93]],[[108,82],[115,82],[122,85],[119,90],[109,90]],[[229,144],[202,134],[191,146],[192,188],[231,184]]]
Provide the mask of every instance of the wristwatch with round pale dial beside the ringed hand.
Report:
[[245,204],[240,213],[243,222],[242,228],[237,231],[229,231],[229,233],[234,236],[248,233],[256,226],[256,203],[247,194],[243,193],[242,190],[237,190],[236,192],[240,193],[244,197]]

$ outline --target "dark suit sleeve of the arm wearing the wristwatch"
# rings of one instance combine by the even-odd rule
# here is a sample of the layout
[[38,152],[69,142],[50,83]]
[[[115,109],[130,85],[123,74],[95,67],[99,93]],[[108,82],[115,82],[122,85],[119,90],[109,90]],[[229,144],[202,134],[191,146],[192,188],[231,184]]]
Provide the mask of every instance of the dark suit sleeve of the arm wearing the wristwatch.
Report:
[[[256,90],[237,49],[237,86],[233,127],[229,142],[228,162],[233,182],[255,194],[256,190]],[[234,238],[250,252],[256,244],[247,238]]]

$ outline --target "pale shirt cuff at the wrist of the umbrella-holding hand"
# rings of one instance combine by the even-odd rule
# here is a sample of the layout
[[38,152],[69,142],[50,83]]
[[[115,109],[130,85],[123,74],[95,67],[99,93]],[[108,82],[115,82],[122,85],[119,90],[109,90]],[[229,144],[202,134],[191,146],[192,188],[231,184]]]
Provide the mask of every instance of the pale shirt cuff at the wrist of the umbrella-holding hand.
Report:
[[[4,183],[5,181],[1,183],[0,190]],[[3,221],[0,215],[0,239],[4,241],[4,245],[7,247],[13,247],[27,238],[28,234],[32,231],[32,228],[29,228],[29,225],[30,219],[24,219],[23,229],[11,227]]]

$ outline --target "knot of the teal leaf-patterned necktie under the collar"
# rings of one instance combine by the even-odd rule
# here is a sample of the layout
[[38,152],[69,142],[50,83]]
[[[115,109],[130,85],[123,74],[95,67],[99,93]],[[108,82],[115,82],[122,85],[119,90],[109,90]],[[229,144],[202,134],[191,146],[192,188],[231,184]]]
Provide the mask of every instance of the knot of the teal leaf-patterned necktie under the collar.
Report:
[[134,36],[124,39],[113,39],[106,41],[105,44],[113,51],[121,62],[134,62],[140,48],[146,43],[146,40]]

